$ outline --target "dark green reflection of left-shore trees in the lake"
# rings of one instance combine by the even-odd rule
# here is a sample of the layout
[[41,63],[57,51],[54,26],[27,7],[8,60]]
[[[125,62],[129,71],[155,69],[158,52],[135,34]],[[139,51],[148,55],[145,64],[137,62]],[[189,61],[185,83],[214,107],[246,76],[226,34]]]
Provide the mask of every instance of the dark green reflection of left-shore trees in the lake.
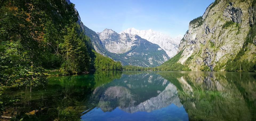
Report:
[[[117,75],[120,76],[117,73],[113,73],[112,76]],[[112,78],[111,75],[103,73],[98,73],[97,76],[102,76],[100,79],[103,80]],[[78,121],[81,113],[89,109],[84,104],[94,90],[95,84],[108,83],[96,79],[99,78],[94,78],[92,75],[51,76],[45,88],[38,87],[32,89],[31,92],[29,92],[29,88],[11,88],[11,90],[6,90],[7,94],[3,97],[10,96],[20,100],[18,103],[8,105],[8,111],[17,111],[17,114],[12,116],[13,119],[11,119],[14,121],[22,118],[24,121]],[[10,93],[12,91],[17,93]],[[31,102],[32,107],[29,107],[27,102]],[[13,106],[17,108],[13,109]],[[91,105],[91,107],[93,106]],[[33,110],[37,110],[35,114],[29,113]]]

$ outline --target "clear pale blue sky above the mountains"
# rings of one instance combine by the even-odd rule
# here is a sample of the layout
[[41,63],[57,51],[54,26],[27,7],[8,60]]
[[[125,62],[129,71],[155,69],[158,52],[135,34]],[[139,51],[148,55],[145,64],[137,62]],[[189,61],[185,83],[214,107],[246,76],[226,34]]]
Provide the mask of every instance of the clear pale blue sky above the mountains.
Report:
[[119,33],[134,27],[152,29],[172,37],[184,35],[189,22],[197,18],[214,0],[70,0],[85,26],[101,32],[105,28]]

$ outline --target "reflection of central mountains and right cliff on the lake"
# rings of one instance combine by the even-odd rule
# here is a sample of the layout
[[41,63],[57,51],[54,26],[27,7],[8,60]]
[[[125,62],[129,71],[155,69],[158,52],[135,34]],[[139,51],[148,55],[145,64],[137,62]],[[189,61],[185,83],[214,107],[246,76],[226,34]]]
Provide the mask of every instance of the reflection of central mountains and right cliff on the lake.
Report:
[[94,89],[90,98],[97,108],[82,118],[95,116],[98,108],[103,114],[150,113],[174,104],[190,120],[256,120],[255,79],[255,73],[237,72],[123,72]]

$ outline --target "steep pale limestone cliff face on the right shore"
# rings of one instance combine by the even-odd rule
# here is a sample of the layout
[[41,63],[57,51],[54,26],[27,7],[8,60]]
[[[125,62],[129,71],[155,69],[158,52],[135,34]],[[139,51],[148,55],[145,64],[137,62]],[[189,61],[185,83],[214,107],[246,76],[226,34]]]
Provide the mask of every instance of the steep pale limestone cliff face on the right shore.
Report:
[[[208,66],[211,71],[224,71],[227,60],[233,59],[243,47],[255,23],[253,0],[216,0],[202,17],[190,22],[178,48],[178,62],[192,71]],[[242,59],[255,60],[256,39],[249,43]],[[218,70],[216,70],[218,67]]]

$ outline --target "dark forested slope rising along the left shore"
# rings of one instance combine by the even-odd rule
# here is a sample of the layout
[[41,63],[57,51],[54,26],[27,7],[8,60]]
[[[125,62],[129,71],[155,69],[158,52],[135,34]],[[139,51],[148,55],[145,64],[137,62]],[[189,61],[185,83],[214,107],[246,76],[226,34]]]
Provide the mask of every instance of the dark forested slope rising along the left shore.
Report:
[[[106,63],[114,65],[107,70],[121,69],[118,62],[98,57],[91,50],[91,41],[78,22],[78,12],[74,4],[68,2],[0,2],[0,95],[12,85],[43,86],[47,83],[46,69],[57,69],[61,75],[94,69],[97,58],[109,60]],[[5,104],[14,101],[0,96],[0,113]]]

